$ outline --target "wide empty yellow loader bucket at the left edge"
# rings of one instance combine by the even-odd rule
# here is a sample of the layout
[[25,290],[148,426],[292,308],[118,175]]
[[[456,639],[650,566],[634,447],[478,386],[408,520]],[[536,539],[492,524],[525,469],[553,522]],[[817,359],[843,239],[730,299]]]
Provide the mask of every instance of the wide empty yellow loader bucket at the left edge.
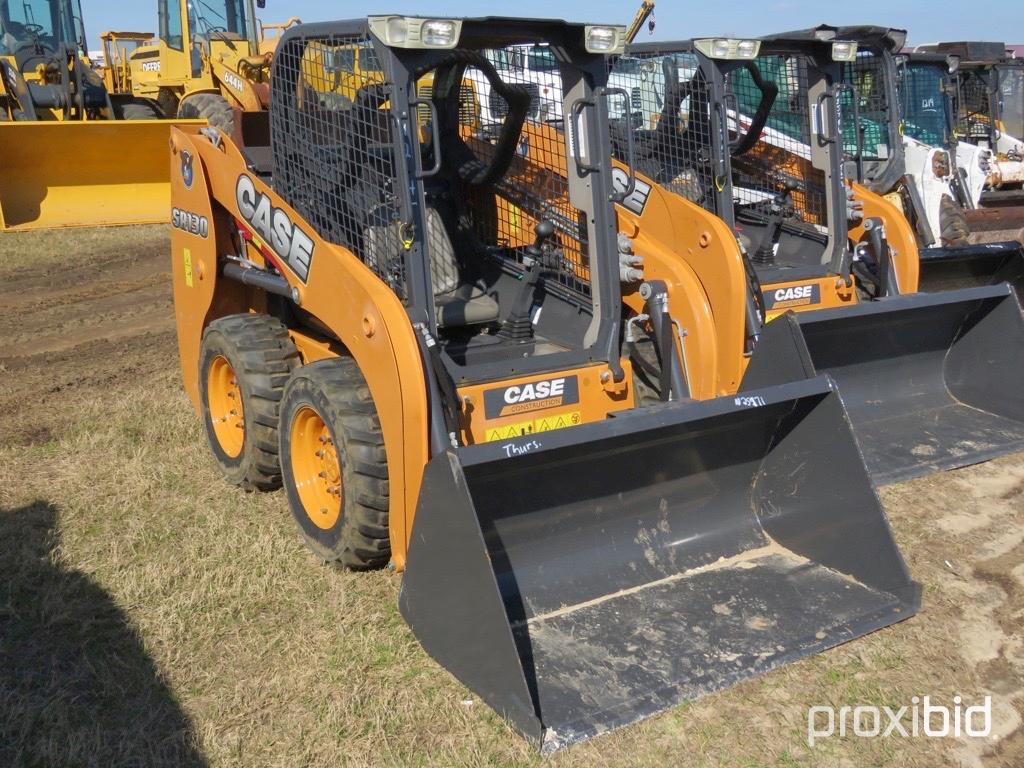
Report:
[[0,123],[0,229],[170,220],[169,141],[180,120]]

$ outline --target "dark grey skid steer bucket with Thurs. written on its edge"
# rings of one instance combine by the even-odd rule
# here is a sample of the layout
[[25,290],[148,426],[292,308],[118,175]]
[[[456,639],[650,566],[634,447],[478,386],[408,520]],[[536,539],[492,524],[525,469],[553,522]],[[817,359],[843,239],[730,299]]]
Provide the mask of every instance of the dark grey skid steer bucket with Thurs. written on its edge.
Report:
[[436,456],[399,595],[544,753],[919,604],[827,377]]

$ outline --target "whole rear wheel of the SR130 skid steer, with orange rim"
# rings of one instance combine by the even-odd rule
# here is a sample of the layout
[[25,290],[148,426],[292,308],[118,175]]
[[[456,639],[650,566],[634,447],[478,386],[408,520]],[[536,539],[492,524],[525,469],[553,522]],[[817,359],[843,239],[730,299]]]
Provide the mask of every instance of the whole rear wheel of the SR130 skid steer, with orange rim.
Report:
[[247,490],[281,487],[281,397],[299,353],[288,329],[266,314],[231,314],[203,334],[199,392],[203,424],[220,471]]

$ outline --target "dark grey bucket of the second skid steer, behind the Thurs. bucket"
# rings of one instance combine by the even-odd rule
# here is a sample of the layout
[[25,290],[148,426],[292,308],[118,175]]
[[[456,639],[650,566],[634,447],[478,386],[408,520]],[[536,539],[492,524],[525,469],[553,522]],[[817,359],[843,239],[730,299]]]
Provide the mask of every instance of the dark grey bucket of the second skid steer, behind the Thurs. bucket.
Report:
[[815,373],[835,379],[877,483],[1024,450],[1024,317],[1006,283],[783,315],[743,386]]

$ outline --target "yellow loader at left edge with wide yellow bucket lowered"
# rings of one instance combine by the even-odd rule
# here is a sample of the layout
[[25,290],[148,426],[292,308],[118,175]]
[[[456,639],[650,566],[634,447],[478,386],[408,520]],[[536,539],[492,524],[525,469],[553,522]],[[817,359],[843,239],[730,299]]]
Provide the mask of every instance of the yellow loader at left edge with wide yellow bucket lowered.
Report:
[[78,0],[0,0],[0,230],[167,221],[170,123],[104,87]]

